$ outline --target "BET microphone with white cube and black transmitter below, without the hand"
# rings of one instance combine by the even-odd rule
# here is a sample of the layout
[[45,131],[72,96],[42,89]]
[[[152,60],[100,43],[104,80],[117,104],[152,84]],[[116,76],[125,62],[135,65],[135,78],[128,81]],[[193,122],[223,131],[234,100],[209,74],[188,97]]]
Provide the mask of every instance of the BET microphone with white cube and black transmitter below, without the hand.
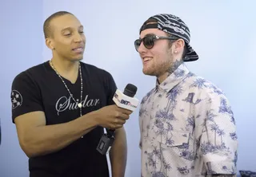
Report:
[[[132,84],[126,85],[124,92],[120,90],[116,90],[114,93],[114,103],[119,108],[126,108],[132,112],[138,107],[139,100],[134,98],[137,92],[137,87]],[[102,155],[106,155],[110,151],[112,144],[114,142],[114,130],[106,130],[106,134],[104,134],[101,140],[98,143],[98,147],[96,148],[99,153]]]

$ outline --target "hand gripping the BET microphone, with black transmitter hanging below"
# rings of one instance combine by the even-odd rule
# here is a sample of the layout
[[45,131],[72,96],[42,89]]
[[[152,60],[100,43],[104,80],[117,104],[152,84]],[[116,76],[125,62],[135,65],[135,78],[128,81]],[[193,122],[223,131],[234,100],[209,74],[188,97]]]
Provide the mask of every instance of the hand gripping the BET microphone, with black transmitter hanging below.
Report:
[[126,123],[129,119],[130,114],[138,107],[138,99],[134,98],[137,92],[137,87],[135,85],[128,84],[124,92],[116,90],[114,93],[114,103],[116,105],[111,105],[101,109],[101,112],[105,112],[104,116],[106,121],[102,120],[102,127],[110,128],[107,130],[107,134],[104,134],[98,143],[97,151],[102,155],[105,155],[114,142],[114,129],[122,128],[122,125]]

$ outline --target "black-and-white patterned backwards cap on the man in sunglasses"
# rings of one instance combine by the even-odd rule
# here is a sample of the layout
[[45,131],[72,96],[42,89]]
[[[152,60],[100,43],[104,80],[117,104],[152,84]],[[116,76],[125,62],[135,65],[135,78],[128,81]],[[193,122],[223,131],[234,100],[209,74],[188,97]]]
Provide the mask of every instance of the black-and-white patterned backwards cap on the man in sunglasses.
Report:
[[[186,26],[185,22],[182,21],[181,18],[176,17],[172,14],[157,14],[150,18],[154,18],[158,21],[157,24],[146,24],[144,23],[139,31],[157,28],[158,30],[162,30],[166,33],[170,33],[176,37],[182,38],[186,42],[187,53],[183,61],[197,61],[198,54],[192,49],[190,46],[190,30],[188,26]],[[149,19],[150,19],[149,18]]]

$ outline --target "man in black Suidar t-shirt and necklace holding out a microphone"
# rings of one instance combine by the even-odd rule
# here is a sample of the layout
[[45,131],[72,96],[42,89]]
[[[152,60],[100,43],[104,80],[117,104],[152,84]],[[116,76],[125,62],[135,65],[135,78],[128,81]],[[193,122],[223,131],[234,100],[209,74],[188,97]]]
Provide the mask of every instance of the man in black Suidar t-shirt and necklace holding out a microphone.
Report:
[[116,129],[112,176],[124,176],[122,125],[131,112],[114,104],[113,77],[81,61],[86,37],[73,14],[52,14],[43,28],[52,59],[19,73],[11,88],[12,120],[30,177],[108,177],[106,155],[96,150],[103,128]]

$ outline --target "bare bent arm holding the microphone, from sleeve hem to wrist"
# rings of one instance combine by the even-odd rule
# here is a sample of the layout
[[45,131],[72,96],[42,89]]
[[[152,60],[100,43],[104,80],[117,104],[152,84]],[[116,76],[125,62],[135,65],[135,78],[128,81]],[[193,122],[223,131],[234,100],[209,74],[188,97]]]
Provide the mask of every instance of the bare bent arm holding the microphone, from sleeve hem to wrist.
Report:
[[61,150],[90,132],[97,126],[93,116],[92,112],[64,124],[46,125],[43,112],[29,112],[14,122],[22,150],[28,157],[34,157]]

